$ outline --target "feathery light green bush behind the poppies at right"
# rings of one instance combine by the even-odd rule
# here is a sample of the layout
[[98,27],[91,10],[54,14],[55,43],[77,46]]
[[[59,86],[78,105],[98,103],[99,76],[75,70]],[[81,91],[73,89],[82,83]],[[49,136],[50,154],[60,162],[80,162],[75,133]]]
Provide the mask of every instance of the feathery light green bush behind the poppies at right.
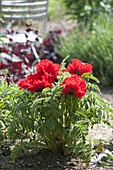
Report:
[[113,20],[98,18],[92,32],[81,31],[79,28],[61,40],[58,53],[64,57],[74,56],[94,66],[94,75],[101,84],[113,83]]

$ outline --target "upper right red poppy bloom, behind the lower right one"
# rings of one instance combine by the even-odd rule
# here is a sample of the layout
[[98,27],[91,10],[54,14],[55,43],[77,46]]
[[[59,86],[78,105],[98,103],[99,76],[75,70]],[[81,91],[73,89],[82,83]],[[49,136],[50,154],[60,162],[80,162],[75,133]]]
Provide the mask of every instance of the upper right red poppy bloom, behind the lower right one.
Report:
[[79,74],[82,75],[83,73],[92,73],[93,66],[88,63],[83,63],[76,58],[72,60],[72,64],[68,65],[68,71],[70,74]]

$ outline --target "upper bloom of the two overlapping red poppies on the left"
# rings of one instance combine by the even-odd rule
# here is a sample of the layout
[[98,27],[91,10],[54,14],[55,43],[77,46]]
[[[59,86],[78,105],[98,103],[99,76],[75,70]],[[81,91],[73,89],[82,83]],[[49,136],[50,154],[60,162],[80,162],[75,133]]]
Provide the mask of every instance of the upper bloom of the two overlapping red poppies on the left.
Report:
[[59,64],[55,64],[48,59],[42,60],[36,65],[37,74],[40,76],[48,76],[51,79],[51,82],[53,82],[58,76],[59,69]]

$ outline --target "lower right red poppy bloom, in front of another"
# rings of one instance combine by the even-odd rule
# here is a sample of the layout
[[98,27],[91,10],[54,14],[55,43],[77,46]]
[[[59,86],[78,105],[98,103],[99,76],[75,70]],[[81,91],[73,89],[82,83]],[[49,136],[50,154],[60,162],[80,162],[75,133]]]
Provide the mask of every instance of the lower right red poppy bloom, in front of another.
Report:
[[62,94],[74,94],[77,98],[82,98],[86,93],[86,82],[78,75],[67,77],[61,84],[64,86]]

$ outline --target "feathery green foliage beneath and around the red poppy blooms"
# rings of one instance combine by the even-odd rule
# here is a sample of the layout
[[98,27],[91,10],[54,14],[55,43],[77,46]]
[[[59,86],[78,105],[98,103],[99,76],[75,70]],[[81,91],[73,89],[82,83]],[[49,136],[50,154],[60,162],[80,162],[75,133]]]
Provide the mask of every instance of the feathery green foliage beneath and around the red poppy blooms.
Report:
[[74,152],[89,162],[88,127],[107,122],[112,109],[99,96],[98,86],[90,82],[98,80],[89,73],[82,76],[87,82],[87,93],[82,99],[61,95],[60,84],[68,76],[67,72],[60,72],[51,88],[33,93],[19,90],[17,85],[1,84],[0,116],[7,122],[8,137],[18,141],[12,151],[13,160],[29,148],[46,147],[64,155]]

